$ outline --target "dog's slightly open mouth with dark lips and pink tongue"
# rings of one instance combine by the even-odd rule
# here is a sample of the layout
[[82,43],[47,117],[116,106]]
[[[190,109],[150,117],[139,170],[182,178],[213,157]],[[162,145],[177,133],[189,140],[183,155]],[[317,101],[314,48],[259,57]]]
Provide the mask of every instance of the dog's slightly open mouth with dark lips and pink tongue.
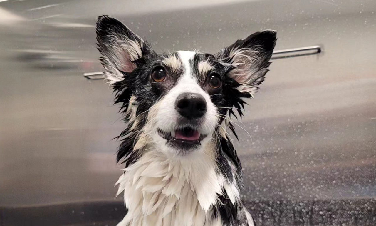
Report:
[[158,134],[168,141],[180,142],[183,144],[201,144],[201,140],[206,137],[199,131],[191,127],[180,128],[171,132],[158,129]]

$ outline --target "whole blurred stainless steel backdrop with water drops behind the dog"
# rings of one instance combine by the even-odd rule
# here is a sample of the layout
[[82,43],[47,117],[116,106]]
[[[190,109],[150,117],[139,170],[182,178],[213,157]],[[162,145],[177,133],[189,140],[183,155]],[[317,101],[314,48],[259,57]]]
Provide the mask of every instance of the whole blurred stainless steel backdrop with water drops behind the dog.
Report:
[[[236,122],[243,199],[258,225],[376,224],[376,1],[0,0],[0,225],[116,225],[124,127],[95,22],[123,21],[157,52],[209,53],[263,29],[275,50]],[[276,55],[277,56],[277,55]]]

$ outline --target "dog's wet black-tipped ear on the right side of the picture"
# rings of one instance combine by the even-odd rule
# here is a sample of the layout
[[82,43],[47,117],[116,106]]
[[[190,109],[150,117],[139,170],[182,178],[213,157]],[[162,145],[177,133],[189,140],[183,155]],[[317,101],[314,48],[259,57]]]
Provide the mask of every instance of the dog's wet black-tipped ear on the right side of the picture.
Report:
[[240,84],[237,89],[246,94],[244,97],[253,98],[264,81],[276,44],[276,34],[272,30],[256,32],[218,52],[219,60],[232,65],[228,76]]

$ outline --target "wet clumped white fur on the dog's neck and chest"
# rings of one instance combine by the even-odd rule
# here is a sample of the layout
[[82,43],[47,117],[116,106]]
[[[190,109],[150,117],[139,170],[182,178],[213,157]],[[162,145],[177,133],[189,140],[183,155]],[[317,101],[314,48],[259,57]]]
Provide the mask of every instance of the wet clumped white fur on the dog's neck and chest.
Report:
[[118,194],[128,212],[118,225],[221,225],[217,195],[225,191],[235,203],[239,189],[218,173],[210,145],[181,158],[149,150],[124,169]]

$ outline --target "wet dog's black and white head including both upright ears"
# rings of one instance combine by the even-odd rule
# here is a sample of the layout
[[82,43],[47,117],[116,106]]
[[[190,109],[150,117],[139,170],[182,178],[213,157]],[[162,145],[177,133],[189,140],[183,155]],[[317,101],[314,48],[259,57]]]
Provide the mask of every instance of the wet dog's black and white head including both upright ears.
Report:
[[121,135],[131,140],[125,146],[139,149],[144,140],[164,153],[186,156],[219,136],[228,138],[224,127],[233,127],[227,117],[233,108],[241,115],[241,98],[252,98],[264,80],[276,32],[257,32],[215,55],[157,54],[120,21],[102,16],[97,41],[130,124]]

